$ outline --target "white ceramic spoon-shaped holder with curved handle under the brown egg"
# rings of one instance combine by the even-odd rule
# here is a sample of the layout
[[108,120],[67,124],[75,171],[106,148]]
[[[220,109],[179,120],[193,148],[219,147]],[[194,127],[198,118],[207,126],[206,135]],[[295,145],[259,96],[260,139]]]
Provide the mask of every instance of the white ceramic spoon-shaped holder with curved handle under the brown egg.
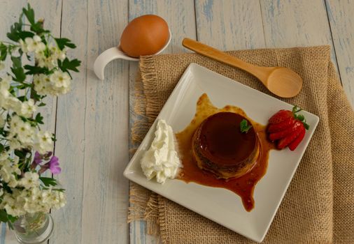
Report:
[[[167,41],[166,45],[164,45],[164,47],[162,47],[162,49],[160,49],[160,51],[155,53],[154,55],[163,52],[164,49],[166,49],[166,47],[171,42],[171,38],[172,38],[171,30],[169,29],[169,40]],[[97,75],[97,77],[99,77],[99,79],[104,80],[104,68],[109,62],[111,62],[114,59],[139,61],[139,58],[133,58],[132,56],[128,56],[127,54],[122,52],[119,43],[118,47],[111,47],[109,49],[106,49],[106,51],[102,52],[101,54],[99,54],[97,59],[94,61],[94,73]]]

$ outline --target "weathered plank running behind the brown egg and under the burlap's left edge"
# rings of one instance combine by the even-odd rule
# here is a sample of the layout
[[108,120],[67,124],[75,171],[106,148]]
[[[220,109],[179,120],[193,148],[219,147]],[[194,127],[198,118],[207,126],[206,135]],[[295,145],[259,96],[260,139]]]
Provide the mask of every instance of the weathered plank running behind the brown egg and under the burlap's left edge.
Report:
[[[164,53],[185,52],[181,45],[183,38],[196,38],[194,3],[193,1],[132,1],[129,0],[129,21],[135,17],[146,14],[160,15],[167,21],[172,33],[172,40]],[[129,63],[129,125],[130,129],[136,116],[134,116],[134,84],[138,63]],[[140,118],[141,119],[141,118]],[[130,130],[129,130],[130,131]],[[132,143],[129,148],[134,148]],[[135,221],[129,225],[130,243],[160,243],[158,238],[146,235],[144,222]]]

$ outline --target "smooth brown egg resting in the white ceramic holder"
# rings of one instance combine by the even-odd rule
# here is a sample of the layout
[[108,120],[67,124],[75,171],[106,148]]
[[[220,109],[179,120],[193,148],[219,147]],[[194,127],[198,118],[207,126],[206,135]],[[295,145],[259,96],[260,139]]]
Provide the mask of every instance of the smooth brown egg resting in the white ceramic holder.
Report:
[[169,26],[157,15],[136,17],[125,27],[120,48],[133,57],[155,54],[169,40]]

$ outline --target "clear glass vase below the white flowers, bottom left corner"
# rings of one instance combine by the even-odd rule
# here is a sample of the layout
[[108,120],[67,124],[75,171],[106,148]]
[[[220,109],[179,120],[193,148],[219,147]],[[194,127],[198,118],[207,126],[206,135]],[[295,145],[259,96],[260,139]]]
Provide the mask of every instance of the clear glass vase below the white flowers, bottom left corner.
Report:
[[50,213],[27,213],[13,223],[17,241],[24,244],[43,243],[52,235]]

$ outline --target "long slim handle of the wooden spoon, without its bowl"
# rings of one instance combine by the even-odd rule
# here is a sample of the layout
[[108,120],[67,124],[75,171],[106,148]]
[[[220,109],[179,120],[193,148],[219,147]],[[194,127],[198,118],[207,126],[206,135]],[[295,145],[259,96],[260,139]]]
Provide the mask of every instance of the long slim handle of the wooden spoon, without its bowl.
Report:
[[192,51],[207,56],[211,59],[215,59],[216,61],[226,63],[229,66],[240,68],[241,70],[244,70],[260,79],[263,84],[266,84],[269,74],[272,70],[274,70],[274,68],[254,66],[253,64],[242,61],[241,59],[237,59],[234,56],[225,54],[225,52],[221,52],[218,49],[209,47],[208,45],[199,43],[196,40],[192,40],[190,38],[184,38],[182,45],[183,47],[191,49]]

